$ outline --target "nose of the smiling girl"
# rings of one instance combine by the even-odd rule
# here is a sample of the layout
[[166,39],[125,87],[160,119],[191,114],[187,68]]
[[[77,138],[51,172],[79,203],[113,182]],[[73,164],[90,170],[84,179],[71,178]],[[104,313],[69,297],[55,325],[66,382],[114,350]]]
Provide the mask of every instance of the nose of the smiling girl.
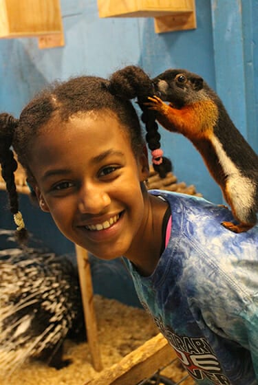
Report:
[[98,214],[109,206],[111,199],[102,186],[83,186],[80,191],[78,209],[82,213]]

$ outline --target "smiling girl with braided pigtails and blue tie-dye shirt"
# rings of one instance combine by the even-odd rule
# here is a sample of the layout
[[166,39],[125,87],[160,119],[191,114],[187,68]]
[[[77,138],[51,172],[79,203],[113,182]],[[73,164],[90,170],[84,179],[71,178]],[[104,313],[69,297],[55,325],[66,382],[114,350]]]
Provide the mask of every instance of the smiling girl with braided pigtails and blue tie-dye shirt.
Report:
[[[147,191],[147,149],[130,99],[153,94],[125,67],[81,76],[36,96],[20,118],[0,115],[0,161],[25,234],[13,173],[18,155],[41,210],[100,259],[123,256],[142,306],[198,384],[258,384],[258,228],[235,234],[230,210],[175,192]],[[171,170],[153,111],[142,115],[153,165]]]

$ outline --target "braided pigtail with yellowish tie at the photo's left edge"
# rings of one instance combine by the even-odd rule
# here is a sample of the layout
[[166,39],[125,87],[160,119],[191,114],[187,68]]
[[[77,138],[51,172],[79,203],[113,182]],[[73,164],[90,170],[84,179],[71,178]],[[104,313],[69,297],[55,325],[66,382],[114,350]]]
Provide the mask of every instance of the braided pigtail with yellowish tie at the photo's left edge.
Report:
[[23,222],[23,217],[19,211],[19,199],[14,181],[14,172],[17,170],[17,161],[11,150],[14,130],[18,125],[18,120],[8,113],[0,114],[0,164],[1,175],[6,182],[6,190],[10,203],[10,211],[14,215],[14,222],[17,225],[17,241],[25,243],[28,238],[27,230]]

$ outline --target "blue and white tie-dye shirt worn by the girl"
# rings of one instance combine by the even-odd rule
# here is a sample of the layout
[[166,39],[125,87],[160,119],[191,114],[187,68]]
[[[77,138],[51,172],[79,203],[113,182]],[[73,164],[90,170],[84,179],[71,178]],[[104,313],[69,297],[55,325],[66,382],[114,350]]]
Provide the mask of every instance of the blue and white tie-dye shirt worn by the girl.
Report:
[[230,210],[152,190],[172,229],[155,271],[129,269],[142,305],[197,384],[258,384],[258,227],[235,234]]

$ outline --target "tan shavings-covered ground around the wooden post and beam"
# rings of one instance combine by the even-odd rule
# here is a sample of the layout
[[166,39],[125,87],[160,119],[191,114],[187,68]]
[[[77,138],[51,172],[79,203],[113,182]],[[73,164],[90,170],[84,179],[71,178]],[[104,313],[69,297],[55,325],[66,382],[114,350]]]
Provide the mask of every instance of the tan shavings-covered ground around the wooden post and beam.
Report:
[[[104,368],[116,364],[158,333],[153,321],[142,309],[98,295],[94,296],[94,303]],[[96,375],[87,342],[75,344],[65,341],[65,358],[72,358],[72,364],[61,370],[41,362],[25,362],[11,376],[0,380],[0,385],[83,385]],[[179,363],[172,364],[162,373],[175,382],[186,375]],[[182,385],[191,384],[194,382],[189,378],[182,382]]]

